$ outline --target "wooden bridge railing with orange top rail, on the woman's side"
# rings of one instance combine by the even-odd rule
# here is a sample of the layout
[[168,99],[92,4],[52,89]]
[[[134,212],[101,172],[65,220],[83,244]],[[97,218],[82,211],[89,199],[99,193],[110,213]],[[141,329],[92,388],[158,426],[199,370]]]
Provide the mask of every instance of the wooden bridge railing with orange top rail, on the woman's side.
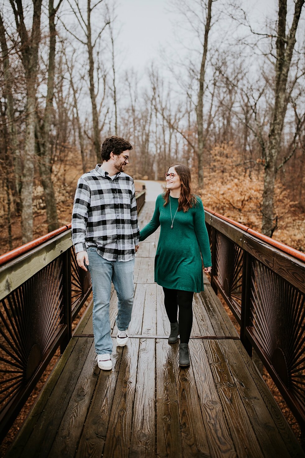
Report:
[[206,210],[211,284],[305,432],[305,254]]

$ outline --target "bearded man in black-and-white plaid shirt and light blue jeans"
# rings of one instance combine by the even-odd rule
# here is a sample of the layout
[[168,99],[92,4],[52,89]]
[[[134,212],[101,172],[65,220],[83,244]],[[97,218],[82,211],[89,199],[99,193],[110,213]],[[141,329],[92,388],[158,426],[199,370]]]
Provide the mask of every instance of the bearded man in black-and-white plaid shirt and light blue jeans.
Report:
[[97,364],[112,369],[109,302],[111,282],[118,294],[117,343],[128,341],[134,303],[134,256],[139,225],[134,180],[124,173],[132,146],[121,137],[106,138],[102,164],[77,183],[72,215],[72,240],[78,265],[89,269],[93,290],[93,333]]

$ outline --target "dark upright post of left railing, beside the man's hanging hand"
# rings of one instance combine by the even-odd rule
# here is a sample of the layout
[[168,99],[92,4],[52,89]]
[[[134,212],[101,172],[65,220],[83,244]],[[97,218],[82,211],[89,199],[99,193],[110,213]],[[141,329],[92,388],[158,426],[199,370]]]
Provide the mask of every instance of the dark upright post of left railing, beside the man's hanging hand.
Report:
[[63,324],[67,325],[67,332],[60,345],[60,354],[69,344],[72,337],[72,305],[71,305],[71,249],[63,253]]

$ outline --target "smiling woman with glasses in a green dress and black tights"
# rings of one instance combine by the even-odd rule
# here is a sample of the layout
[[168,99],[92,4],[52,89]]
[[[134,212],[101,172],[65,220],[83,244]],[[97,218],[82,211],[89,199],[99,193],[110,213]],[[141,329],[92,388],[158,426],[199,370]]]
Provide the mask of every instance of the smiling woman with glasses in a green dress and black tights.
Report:
[[200,197],[191,191],[190,169],[176,164],[165,176],[166,190],[157,197],[154,215],[140,231],[140,241],[161,225],[155,255],[155,282],[163,287],[164,305],[171,323],[168,343],[177,342],[180,333],[179,365],[188,366],[193,294],[203,291],[200,252],[204,272],[210,272],[211,251],[203,205]]

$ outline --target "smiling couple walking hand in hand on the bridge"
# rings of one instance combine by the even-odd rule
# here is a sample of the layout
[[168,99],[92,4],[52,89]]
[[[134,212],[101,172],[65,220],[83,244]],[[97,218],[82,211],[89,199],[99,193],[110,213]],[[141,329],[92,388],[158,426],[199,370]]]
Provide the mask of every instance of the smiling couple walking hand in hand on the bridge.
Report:
[[201,256],[204,272],[210,272],[212,265],[203,204],[191,191],[189,168],[173,165],[165,174],[166,189],[157,197],[153,217],[140,232],[134,180],[124,173],[131,149],[121,137],[106,138],[102,164],[80,177],[75,192],[72,240],[78,265],[91,274],[97,364],[112,369],[111,283],[118,295],[117,344],[124,346],[134,303],[135,253],[139,241],[161,226],[155,282],[163,287],[171,323],[168,342],[177,342],[180,334],[179,365],[188,366],[193,294],[203,291]]

